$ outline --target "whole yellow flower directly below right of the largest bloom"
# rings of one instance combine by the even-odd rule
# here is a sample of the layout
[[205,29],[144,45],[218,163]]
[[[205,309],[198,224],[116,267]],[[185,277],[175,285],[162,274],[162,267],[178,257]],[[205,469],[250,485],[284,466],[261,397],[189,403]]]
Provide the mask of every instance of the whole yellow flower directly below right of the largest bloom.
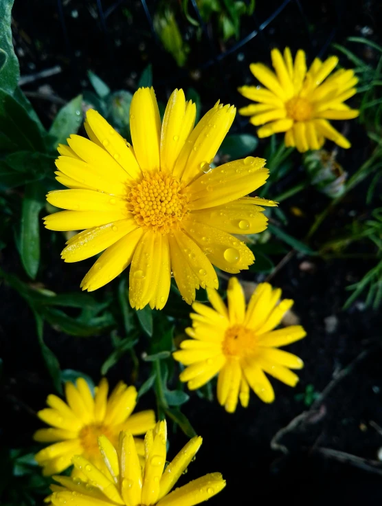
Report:
[[218,401],[227,412],[234,412],[240,399],[246,408],[249,388],[265,402],[275,398],[265,372],[290,386],[297,375],[290,369],[301,369],[302,360],[278,347],[306,336],[301,325],[277,327],[293,300],[278,303],[281,290],[269,283],[260,283],[245,307],[243,288],[236,278],[228,283],[228,307],[214,289],[207,289],[214,309],[194,303],[192,328],[186,329],[192,340],[181,342],[174,358],[184,364],[180,380],[195,390],[218,373]]

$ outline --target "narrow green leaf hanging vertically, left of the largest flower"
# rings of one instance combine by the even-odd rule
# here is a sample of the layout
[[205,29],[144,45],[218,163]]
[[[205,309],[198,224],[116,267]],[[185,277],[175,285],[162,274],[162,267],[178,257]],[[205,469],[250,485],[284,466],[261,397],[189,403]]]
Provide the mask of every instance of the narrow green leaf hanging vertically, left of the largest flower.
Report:
[[27,275],[34,279],[40,263],[40,220],[45,203],[44,188],[38,182],[28,184],[21,210],[20,255]]

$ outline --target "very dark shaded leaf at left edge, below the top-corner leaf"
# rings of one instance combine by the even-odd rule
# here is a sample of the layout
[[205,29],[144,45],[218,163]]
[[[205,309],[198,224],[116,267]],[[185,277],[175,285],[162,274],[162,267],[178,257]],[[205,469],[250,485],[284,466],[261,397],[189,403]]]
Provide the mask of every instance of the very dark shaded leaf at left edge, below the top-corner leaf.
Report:
[[36,120],[3,89],[0,89],[0,130],[6,132],[20,149],[45,151],[41,129]]

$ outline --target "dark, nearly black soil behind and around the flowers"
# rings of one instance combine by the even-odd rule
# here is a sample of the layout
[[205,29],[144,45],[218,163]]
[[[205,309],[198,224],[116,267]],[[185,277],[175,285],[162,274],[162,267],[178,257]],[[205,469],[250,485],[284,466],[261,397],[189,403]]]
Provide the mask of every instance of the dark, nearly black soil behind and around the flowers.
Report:
[[[24,91],[36,91],[38,86],[49,84],[58,96],[69,99],[83,87],[89,87],[85,82],[87,69],[99,74],[111,89],[133,91],[137,76],[150,62],[161,100],[166,100],[173,87],[192,86],[201,94],[205,108],[217,98],[240,105],[243,101],[236,87],[249,82],[248,64],[269,61],[269,48],[273,45],[284,47],[288,44],[292,50],[304,47],[313,60],[321,50],[324,50],[323,56],[328,54],[328,43],[344,43],[346,36],[359,36],[365,26],[374,34],[381,33],[382,7],[377,0],[301,1],[304,17],[297,2],[291,1],[262,34],[221,63],[210,65],[209,61],[232,47],[235,41],[223,48],[213,39],[214,51],[210,51],[207,40],[203,39],[203,46],[198,46],[203,47],[203,51],[192,52],[189,67],[179,70],[153,40],[142,3],[118,4],[106,17],[106,31],[95,2],[71,0],[64,3],[66,35],[56,2],[15,2],[14,37],[21,74],[34,74],[54,65],[61,65],[63,69],[56,76],[25,86]],[[243,21],[242,36],[254,30],[254,23],[262,23],[281,3],[280,0],[258,0],[256,19]],[[155,2],[148,4],[153,14]],[[113,2],[103,1],[102,5],[107,12]],[[122,7],[126,5],[133,16],[131,24],[122,14]],[[74,12],[78,16],[74,17]],[[96,19],[94,13],[98,13]],[[34,99],[33,104],[49,125],[53,107],[38,99]],[[243,118],[238,118],[233,128],[251,131]],[[356,122],[348,128],[347,135],[354,147],[351,152],[341,153],[339,161],[351,174],[359,162],[368,157],[369,148],[366,135]],[[262,155],[263,146],[260,144],[256,155]],[[286,186],[293,184],[293,178],[299,179],[298,170],[297,164],[296,173],[286,181]],[[273,195],[284,189],[279,186],[272,188]],[[338,226],[347,223],[349,212],[357,215],[366,212],[364,195],[365,188],[359,188],[357,195],[346,199],[336,214],[328,217],[317,233],[317,244],[328,240]],[[282,208],[290,220],[289,232],[302,239],[315,214],[327,203],[328,199],[314,190],[306,190],[286,201]],[[291,206],[300,208],[304,216],[293,217]],[[49,232],[42,234],[44,242]],[[56,292],[76,291],[78,280],[87,272],[91,261],[60,263],[61,247],[58,244],[49,251],[43,250],[43,269],[38,281]],[[276,263],[281,258],[276,257]],[[308,272],[302,269],[303,261],[311,263]],[[26,281],[14,248],[9,246],[3,250],[0,263],[4,270],[15,272]],[[204,438],[187,480],[214,471],[221,471],[227,479],[227,489],[212,499],[212,504],[228,505],[235,500],[240,503],[267,500],[270,504],[278,504],[284,499],[298,505],[321,505],[323,502],[374,505],[382,501],[382,466],[373,470],[372,465],[362,461],[363,467],[356,467],[341,461],[339,454],[326,451],[337,450],[377,461],[378,450],[382,447],[382,432],[375,428],[375,423],[382,427],[381,312],[365,309],[361,300],[348,311],[341,309],[348,297],[346,285],[359,280],[371,265],[366,261],[323,261],[297,255],[274,276],[272,283],[283,289],[284,296],[295,300],[295,314],[308,333],[306,339],[289,347],[289,351],[305,362],[295,390],[272,381],[276,391],[273,404],[262,404],[252,395],[247,410],[238,408],[234,415],[226,414],[216,401],[210,403],[196,395],[184,406],[185,414]],[[245,279],[259,281],[254,274],[246,274]],[[114,290],[115,282],[105,289]],[[52,384],[41,359],[30,309],[10,287],[3,285],[1,293],[0,336],[4,361],[1,439],[3,445],[19,448],[30,445],[32,432],[40,426],[34,412],[43,407]],[[333,329],[328,329],[328,317],[332,317],[335,324]],[[83,371],[98,380],[100,366],[112,349],[108,336],[80,339],[49,328],[46,331],[46,342],[58,356],[62,369]],[[348,374],[338,379],[339,371],[350,364]],[[131,362],[126,355],[111,369],[111,382],[121,378],[128,382],[129,371]],[[315,391],[322,392],[333,377],[337,378],[337,383],[313,406],[306,419],[278,438],[279,444],[285,445],[289,453],[271,449],[275,434],[308,410],[297,394],[304,393],[309,384],[314,385]],[[145,371],[140,371],[138,384],[145,379]],[[140,406],[153,406],[154,402],[149,394],[144,396]],[[185,442],[186,437],[178,430],[171,439],[170,451]]]

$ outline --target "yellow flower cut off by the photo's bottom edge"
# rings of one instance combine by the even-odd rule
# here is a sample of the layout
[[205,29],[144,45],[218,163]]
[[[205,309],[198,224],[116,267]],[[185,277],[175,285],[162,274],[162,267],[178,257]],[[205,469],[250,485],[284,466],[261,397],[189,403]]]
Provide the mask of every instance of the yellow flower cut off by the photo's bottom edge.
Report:
[[[193,506],[218,494],[225,487],[220,473],[206,474],[170,492],[199,450],[201,437],[192,438],[166,469],[166,421],[149,430],[144,439],[146,456],[139,462],[131,432],[121,432],[117,451],[109,439],[98,439],[104,466],[100,470],[82,456],[73,463],[85,474],[91,487],[79,478],[54,476],[60,485],[52,485],[54,506]],[[74,500],[74,503],[72,502]]]

